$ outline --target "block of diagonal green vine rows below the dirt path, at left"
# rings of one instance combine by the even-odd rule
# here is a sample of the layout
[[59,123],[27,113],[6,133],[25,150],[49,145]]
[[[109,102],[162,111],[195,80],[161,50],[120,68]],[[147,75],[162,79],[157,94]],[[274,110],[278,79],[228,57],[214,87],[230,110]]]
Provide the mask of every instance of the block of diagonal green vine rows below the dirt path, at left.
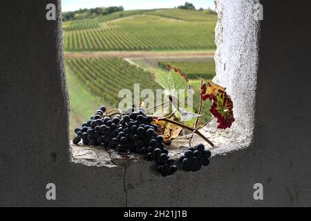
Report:
[[151,74],[120,58],[68,59],[66,65],[95,96],[117,107],[119,91],[140,84],[140,90],[159,88]]

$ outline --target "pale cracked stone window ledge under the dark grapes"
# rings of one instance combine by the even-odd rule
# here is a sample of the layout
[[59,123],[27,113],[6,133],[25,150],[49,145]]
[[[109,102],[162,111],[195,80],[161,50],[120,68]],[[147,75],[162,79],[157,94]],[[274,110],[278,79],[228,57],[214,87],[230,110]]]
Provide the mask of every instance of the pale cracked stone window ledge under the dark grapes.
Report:
[[[197,135],[194,136],[192,142],[193,144],[205,144],[205,148],[209,148],[211,151],[212,158],[239,151],[243,148],[249,147],[251,144],[251,139],[249,137],[234,135],[232,130],[220,131],[213,128],[204,128],[201,130],[201,133],[206,135],[206,137],[209,137],[209,140],[215,144],[214,148],[210,148],[209,144],[205,143],[205,141]],[[167,146],[169,149],[169,156],[178,159],[188,146],[189,136],[173,140],[172,144]],[[142,155],[139,154],[131,153],[130,155],[122,157],[122,155],[118,154],[113,149],[84,146],[83,144],[77,146],[71,143],[70,153],[72,162],[84,166],[104,166],[107,168],[113,168],[115,166],[128,167],[135,162],[144,160]]]

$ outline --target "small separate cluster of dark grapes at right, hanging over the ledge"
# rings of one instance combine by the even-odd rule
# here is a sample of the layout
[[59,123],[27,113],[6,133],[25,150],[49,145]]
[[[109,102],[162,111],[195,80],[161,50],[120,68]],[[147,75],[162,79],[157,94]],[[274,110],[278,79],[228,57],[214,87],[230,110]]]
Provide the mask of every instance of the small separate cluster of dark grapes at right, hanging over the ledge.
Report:
[[182,164],[182,170],[186,172],[200,171],[202,166],[209,165],[211,151],[205,151],[203,144],[196,144],[194,147],[189,147],[187,151],[179,157]]

